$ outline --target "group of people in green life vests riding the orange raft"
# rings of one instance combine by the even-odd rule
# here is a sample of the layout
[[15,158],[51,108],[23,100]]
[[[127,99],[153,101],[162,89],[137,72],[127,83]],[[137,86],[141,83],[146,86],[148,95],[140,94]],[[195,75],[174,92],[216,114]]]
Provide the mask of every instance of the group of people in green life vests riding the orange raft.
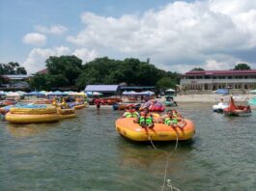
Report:
[[183,128],[185,126],[185,119],[176,110],[168,110],[167,113],[157,119],[149,112],[147,107],[138,113],[132,105],[128,106],[128,109],[122,116],[123,118],[135,118],[134,123],[139,123],[142,127],[153,128],[154,123],[164,123],[172,127]]

